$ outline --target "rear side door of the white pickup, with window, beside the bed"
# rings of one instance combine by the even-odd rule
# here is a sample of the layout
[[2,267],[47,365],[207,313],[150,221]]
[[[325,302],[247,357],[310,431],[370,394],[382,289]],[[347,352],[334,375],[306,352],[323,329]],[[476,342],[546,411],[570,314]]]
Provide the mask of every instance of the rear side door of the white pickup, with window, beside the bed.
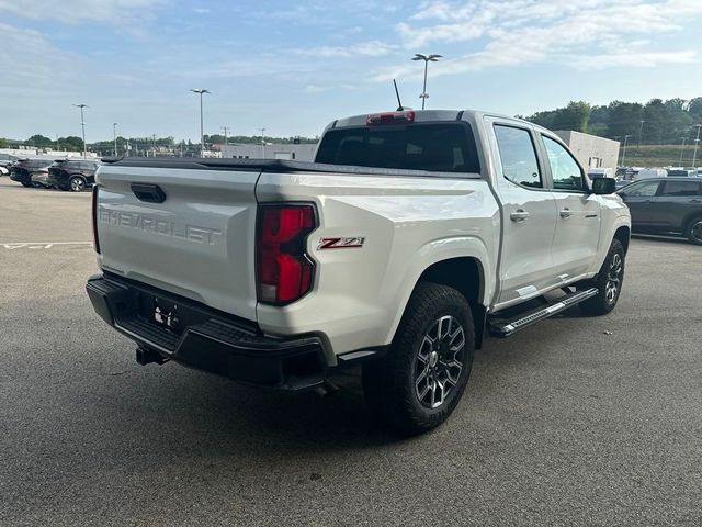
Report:
[[551,245],[555,200],[545,186],[532,130],[487,119],[496,159],[496,190],[502,204],[498,307],[507,307],[554,284]]

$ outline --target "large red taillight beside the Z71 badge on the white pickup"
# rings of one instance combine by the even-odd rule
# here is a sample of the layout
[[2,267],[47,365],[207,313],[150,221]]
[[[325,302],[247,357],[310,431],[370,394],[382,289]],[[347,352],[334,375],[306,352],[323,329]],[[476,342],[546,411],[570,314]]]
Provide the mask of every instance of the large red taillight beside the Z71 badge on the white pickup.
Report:
[[260,302],[288,304],[312,289],[315,264],[305,248],[307,235],[316,227],[312,204],[259,206],[256,278]]

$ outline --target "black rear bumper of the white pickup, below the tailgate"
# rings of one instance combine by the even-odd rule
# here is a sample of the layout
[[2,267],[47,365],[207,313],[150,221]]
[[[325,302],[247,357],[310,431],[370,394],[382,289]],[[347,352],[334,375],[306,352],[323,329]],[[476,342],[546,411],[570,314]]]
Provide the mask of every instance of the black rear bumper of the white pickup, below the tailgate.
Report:
[[[317,337],[269,337],[251,322],[112,274],[91,277],[86,289],[107,324],[162,358],[280,390],[313,388],[326,378],[327,362]],[[156,322],[160,305],[168,306],[162,313],[168,310],[168,317],[172,315],[173,329]]]

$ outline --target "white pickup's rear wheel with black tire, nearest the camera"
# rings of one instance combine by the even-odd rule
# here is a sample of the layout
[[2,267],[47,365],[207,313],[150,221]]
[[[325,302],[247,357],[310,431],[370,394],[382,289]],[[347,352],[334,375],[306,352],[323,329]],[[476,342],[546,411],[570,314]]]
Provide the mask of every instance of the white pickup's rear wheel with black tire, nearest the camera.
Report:
[[371,410],[406,435],[439,426],[458,404],[468,382],[474,335],[465,296],[445,285],[419,283],[387,356],[363,365],[363,392]]

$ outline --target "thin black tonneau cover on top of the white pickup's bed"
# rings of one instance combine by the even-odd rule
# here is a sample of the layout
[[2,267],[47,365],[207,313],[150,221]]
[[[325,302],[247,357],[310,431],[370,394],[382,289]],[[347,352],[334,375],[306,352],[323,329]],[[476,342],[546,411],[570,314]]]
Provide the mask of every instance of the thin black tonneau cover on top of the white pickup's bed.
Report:
[[102,162],[117,167],[177,168],[181,170],[230,170],[240,172],[327,172],[358,173],[364,176],[434,177],[449,179],[479,179],[479,173],[434,172],[428,170],[400,170],[395,168],[327,165],[324,162],[291,161],[287,159],[200,159],[182,157],[105,157]]

